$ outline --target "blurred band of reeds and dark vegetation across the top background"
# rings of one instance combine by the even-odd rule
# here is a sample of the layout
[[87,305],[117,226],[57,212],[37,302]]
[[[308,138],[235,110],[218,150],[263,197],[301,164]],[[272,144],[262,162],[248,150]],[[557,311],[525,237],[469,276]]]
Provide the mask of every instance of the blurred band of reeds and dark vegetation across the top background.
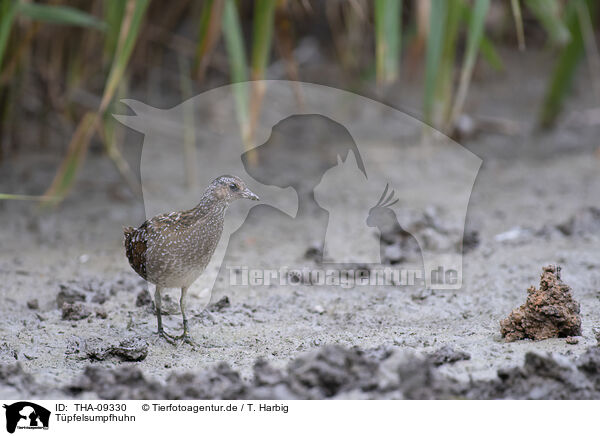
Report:
[[[198,92],[263,78],[349,89],[405,109],[460,139],[474,74],[510,68],[511,51],[546,50],[537,126],[548,129],[569,98],[577,68],[600,93],[594,0],[0,0],[0,162],[47,150],[62,163],[46,192],[0,199],[60,202],[89,158],[111,159],[133,193],[139,181],[123,157],[115,121],[120,97],[175,105]],[[318,68],[316,67],[318,64]],[[406,107],[391,87],[419,87]],[[252,141],[262,89],[238,107]],[[161,95],[160,102],[155,98]],[[501,129],[511,124],[495,120]]]

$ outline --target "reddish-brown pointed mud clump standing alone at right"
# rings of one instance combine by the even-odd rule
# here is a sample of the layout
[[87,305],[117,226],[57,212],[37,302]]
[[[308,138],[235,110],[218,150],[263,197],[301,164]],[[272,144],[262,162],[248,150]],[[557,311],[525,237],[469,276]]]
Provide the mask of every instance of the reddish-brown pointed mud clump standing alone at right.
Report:
[[531,286],[527,294],[525,304],[500,321],[500,331],[507,341],[581,335],[579,303],[560,279],[559,266],[544,267],[540,288]]

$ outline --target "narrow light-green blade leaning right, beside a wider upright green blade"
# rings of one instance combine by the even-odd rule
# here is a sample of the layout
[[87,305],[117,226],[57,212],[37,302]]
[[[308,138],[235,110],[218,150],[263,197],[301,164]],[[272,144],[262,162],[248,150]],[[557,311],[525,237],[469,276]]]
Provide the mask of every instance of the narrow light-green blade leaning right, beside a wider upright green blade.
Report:
[[490,0],[475,0],[473,13],[471,14],[471,19],[469,20],[467,47],[460,73],[460,82],[458,85],[458,91],[456,92],[456,99],[454,102],[454,107],[452,108],[452,114],[448,120],[447,130],[452,128],[454,121],[462,112],[465,99],[467,97],[467,91],[469,90],[469,84],[471,83],[471,76],[473,74],[475,60],[477,59],[479,47],[481,46],[485,18],[489,8]]

